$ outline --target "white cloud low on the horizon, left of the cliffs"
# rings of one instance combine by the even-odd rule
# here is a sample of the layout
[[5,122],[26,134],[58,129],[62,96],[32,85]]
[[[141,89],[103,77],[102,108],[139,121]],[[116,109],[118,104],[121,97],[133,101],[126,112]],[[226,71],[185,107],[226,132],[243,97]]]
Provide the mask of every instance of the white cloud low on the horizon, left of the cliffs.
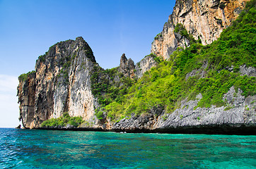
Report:
[[18,77],[0,75],[0,127],[16,127],[19,124]]

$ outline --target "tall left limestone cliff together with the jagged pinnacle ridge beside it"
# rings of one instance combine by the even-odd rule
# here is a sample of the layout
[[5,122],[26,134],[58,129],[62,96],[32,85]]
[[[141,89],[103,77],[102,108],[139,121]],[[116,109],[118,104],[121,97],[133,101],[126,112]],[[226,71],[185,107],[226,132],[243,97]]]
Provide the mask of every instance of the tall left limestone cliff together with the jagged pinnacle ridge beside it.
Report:
[[43,121],[68,112],[70,116],[81,116],[86,121],[83,127],[105,128],[95,109],[105,104],[104,95],[110,87],[124,85],[122,77],[141,77],[156,66],[151,56],[140,63],[135,66],[123,54],[120,66],[108,71],[95,62],[93,51],[82,37],[54,44],[39,56],[35,71],[19,77],[17,96],[23,127],[37,128]]

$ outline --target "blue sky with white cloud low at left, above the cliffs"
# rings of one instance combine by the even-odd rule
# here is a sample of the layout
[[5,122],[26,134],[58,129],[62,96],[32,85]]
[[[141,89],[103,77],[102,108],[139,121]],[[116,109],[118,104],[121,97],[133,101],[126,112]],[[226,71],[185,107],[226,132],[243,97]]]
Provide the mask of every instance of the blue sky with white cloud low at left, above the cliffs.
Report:
[[102,68],[126,54],[150,54],[175,0],[0,0],[0,127],[18,126],[18,76],[35,70],[38,56],[83,37]]

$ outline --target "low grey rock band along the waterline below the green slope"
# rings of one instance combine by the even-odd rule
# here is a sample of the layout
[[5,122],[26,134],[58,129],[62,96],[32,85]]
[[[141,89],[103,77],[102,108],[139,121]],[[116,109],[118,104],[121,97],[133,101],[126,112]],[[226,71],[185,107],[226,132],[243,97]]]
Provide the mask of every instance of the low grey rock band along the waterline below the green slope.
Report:
[[228,106],[194,109],[202,99],[202,95],[199,94],[194,101],[182,101],[181,108],[173,113],[165,114],[162,108],[156,108],[147,114],[124,118],[115,123],[113,129],[117,131],[253,134],[256,132],[256,96],[248,96],[245,99],[241,94],[240,89],[235,92],[234,87],[231,87],[229,92],[223,96]]

